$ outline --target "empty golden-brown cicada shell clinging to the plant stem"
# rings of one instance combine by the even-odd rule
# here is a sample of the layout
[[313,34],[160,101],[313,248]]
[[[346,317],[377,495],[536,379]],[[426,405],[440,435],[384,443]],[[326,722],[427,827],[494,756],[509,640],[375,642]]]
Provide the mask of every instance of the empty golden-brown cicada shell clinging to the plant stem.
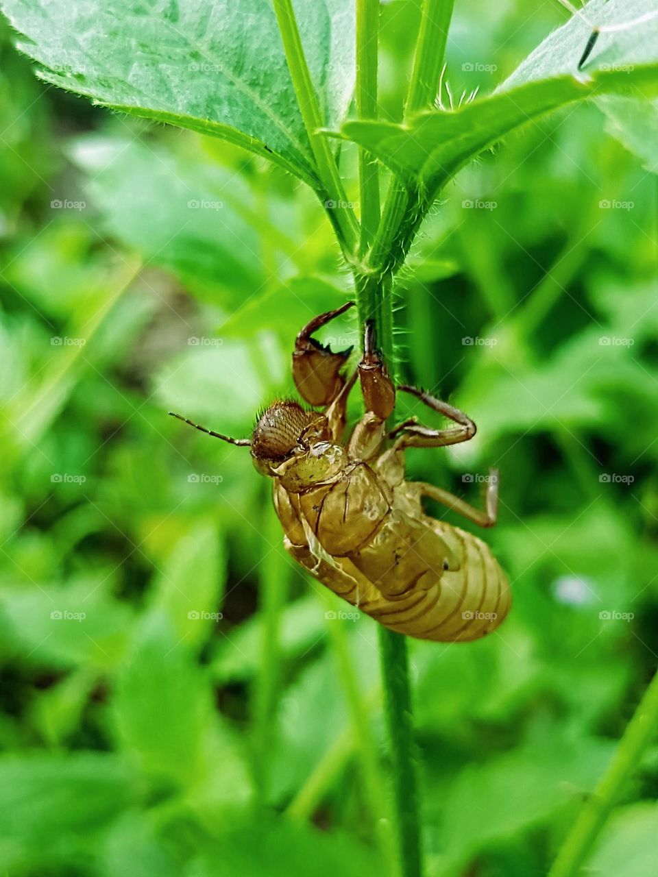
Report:
[[[507,615],[509,583],[488,545],[427,516],[422,498],[492,527],[497,472],[490,471],[484,511],[432,484],[405,481],[405,448],[468,441],[476,424],[452,405],[403,385],[397,391],[416,396],[454,425],[433,429],[411,417],[389,429],[396,388],[375,349],[372,324],[349,378],[349,351],[334,353],[312,338],[352,306],[315,317],[297,335],[295,383],[304,401],[321,411],[277,401],[259,417],[251,439],[231,439],[174,417],[250,447],[255,467],[273,479],[286,550],[327,588],[392,631],[440,642],[478,639]],[[347,434],[347,396],[357,380],[366,413]]]

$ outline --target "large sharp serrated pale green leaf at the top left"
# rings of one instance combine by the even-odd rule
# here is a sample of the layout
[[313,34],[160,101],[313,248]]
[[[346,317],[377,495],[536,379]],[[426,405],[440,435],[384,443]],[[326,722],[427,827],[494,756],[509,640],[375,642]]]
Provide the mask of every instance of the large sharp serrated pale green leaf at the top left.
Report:
[[[295,4],[318,104],[340,125],[354,88],[354,4]],[[319,188],[275,13],[265,0],[4,0],[39,75],[95,103],[229,140]]]

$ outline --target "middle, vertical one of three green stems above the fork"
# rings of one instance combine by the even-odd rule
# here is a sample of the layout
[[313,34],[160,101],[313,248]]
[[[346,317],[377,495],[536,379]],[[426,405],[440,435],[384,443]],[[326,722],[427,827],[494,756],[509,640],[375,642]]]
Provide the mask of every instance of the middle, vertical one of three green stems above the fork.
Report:
[[[379,0],[356,0],[356,111],[361,119],[377,118],[377,46]],[[359,147],[361,254],[379,225],[379,165]]]

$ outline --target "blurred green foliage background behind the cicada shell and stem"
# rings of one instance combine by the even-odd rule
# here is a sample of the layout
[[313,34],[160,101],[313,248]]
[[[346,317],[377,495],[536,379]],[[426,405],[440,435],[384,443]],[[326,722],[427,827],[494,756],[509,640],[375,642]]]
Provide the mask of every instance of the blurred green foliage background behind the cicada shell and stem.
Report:
[[[383,7],[392,120],[416,14]],[[492,90],[562,18],[458,4],[454,93]],[[292,392],[297,329],[349,294],[331,227],[264,160],[40,84],[6,31],[0,60],[4,868],[375,873],[389,802],[374,622],[333,619],[285,556],[247,452],[166,417],[247,435]],[[509,137],[448,187],[401,278],[406,377],[479,427],[410,453],[410,476],[475,501],[500,467],[487,538],[514,594],[493,638],[410,644],[430,877],[545,873],[655,667],[644,113],[636,128],[606,98]],[[325,339],[358,343],[354,322]],[[654,873],[656,794],[654,751],[595,873]]]

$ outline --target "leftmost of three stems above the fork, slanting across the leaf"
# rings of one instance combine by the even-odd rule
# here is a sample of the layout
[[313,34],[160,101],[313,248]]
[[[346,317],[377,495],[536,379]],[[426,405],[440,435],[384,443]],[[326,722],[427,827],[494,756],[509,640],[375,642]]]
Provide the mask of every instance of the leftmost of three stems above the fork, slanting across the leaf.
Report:
[[304,119],[304,127],[311,142],[311,150],[318,168],[318,175],[325,192],[326,200],[332,201],[333,206],[327,212],[339,235],[340,243],[347,253],[354,253],[359,237],[359,226],[354,216],[354,210],[347,203],[345,189],[340,181],[340,174],[329,139],[318,130],[324,125],[318,99],[311,80],[304,55],[304,46],[299,36],[295,11],[291,0],[274,0],[276,20],[283,39],[283,48],[290,69],[290,77],[297,95],[299,110]]

